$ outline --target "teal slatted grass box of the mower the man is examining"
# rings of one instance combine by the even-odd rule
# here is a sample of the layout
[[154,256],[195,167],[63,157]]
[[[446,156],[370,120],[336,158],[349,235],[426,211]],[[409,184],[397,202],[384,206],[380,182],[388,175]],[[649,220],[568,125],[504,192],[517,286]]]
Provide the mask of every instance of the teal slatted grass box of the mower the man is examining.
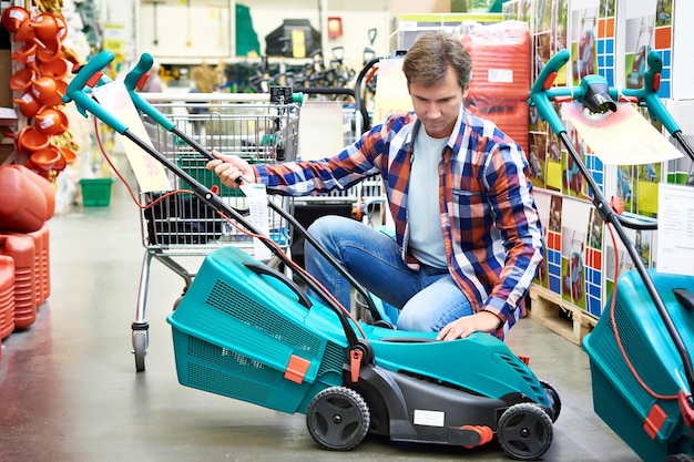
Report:
[[[233,246],[210,254],[167,316],[178,381],[304,413],[316,393],[343,383],[344,332],[329,308],[307,309],[287,285],[251,271],[246,261],[256,263]],[[285,378],[292,356],[308,361],[300,383]]]

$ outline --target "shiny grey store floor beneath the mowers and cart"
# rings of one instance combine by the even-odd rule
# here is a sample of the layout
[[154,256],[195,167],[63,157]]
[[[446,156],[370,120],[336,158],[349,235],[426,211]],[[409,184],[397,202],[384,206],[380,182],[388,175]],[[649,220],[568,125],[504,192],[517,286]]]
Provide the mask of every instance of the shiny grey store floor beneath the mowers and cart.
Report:
[[[0,461],[508,461],[496,441],[476,450],[367,438],[350,452],[312,440],[302,414],[285,414],[178,384],[164,318],[183,287],[152,265],[146,371],[135,372],[141,247],[139,211],[118,182],[109,207],[54,216],[51,294],[29,329],[2,342]],[[523,319],[508,345],[559,390],[562,413],[545,461],[637,461],[593,412],[581,348]]]

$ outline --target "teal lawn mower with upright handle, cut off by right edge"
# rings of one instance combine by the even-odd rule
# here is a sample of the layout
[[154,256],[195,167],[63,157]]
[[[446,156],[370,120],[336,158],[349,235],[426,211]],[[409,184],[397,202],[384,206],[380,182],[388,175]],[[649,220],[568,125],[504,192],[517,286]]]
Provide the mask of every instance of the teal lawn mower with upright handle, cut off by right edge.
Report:
[[[624,227],[655,229],[657,224],[618,215],[590,175],[554,102],[576,101],[592,113],[616,110],[615,101],[645,106],[694,161],[694,151],[667,113],[656,92],[662,61],[647,57],[644,86],[637,90],[610,88],[599,75],[585,76],[580,86],[553,88],[569,52],[557,53],[532,86],[529,104],[538,109],[585,177],[592,202],[604,223],[624,243],[634,268],[614,285],[603,315],[585,336],[590,357],[593,407],[600,418],[644,461],[694,461],[694,277],[647,269]],[[645,226],[645,227],[644,227]],[[619,289],[619,290],[618,290]]]

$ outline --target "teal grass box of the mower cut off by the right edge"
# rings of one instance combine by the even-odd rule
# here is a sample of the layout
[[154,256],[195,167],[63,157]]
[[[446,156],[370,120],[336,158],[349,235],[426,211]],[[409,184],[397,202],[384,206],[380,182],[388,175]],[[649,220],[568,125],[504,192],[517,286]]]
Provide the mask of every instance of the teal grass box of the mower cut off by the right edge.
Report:
[[[684,345],[692,351],[694,312],[677,301],[673,289],[694,292],[694,277],[655,269],[649,273]],[[611,296],[595,328],[583,340],[590,358],[595,413],[644,461],[663,461],[675,453],[692,454],[694,445],[677,400],[656,399],[637,382],[619,348],[618,336],[641,379],[663,397],[676,396],[680,390],[691,393],[682,357],[640,275],[635,270],[624,274],[616,287],[614,324],[609,309]],[[662,408],[666,418],[655,438],[651,438],[645,422],[654,405]]]

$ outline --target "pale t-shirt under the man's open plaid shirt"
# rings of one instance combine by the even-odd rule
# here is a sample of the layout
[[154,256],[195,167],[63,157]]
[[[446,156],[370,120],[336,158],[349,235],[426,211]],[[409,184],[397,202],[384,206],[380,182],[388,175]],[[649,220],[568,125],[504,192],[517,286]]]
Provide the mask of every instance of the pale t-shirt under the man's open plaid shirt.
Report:
[[423,125],[415,138],[407,215],[409,217],[409,245],[418,261],[446,268],[446,247],[439,211],[439,163],[448,143],[432,138]]

